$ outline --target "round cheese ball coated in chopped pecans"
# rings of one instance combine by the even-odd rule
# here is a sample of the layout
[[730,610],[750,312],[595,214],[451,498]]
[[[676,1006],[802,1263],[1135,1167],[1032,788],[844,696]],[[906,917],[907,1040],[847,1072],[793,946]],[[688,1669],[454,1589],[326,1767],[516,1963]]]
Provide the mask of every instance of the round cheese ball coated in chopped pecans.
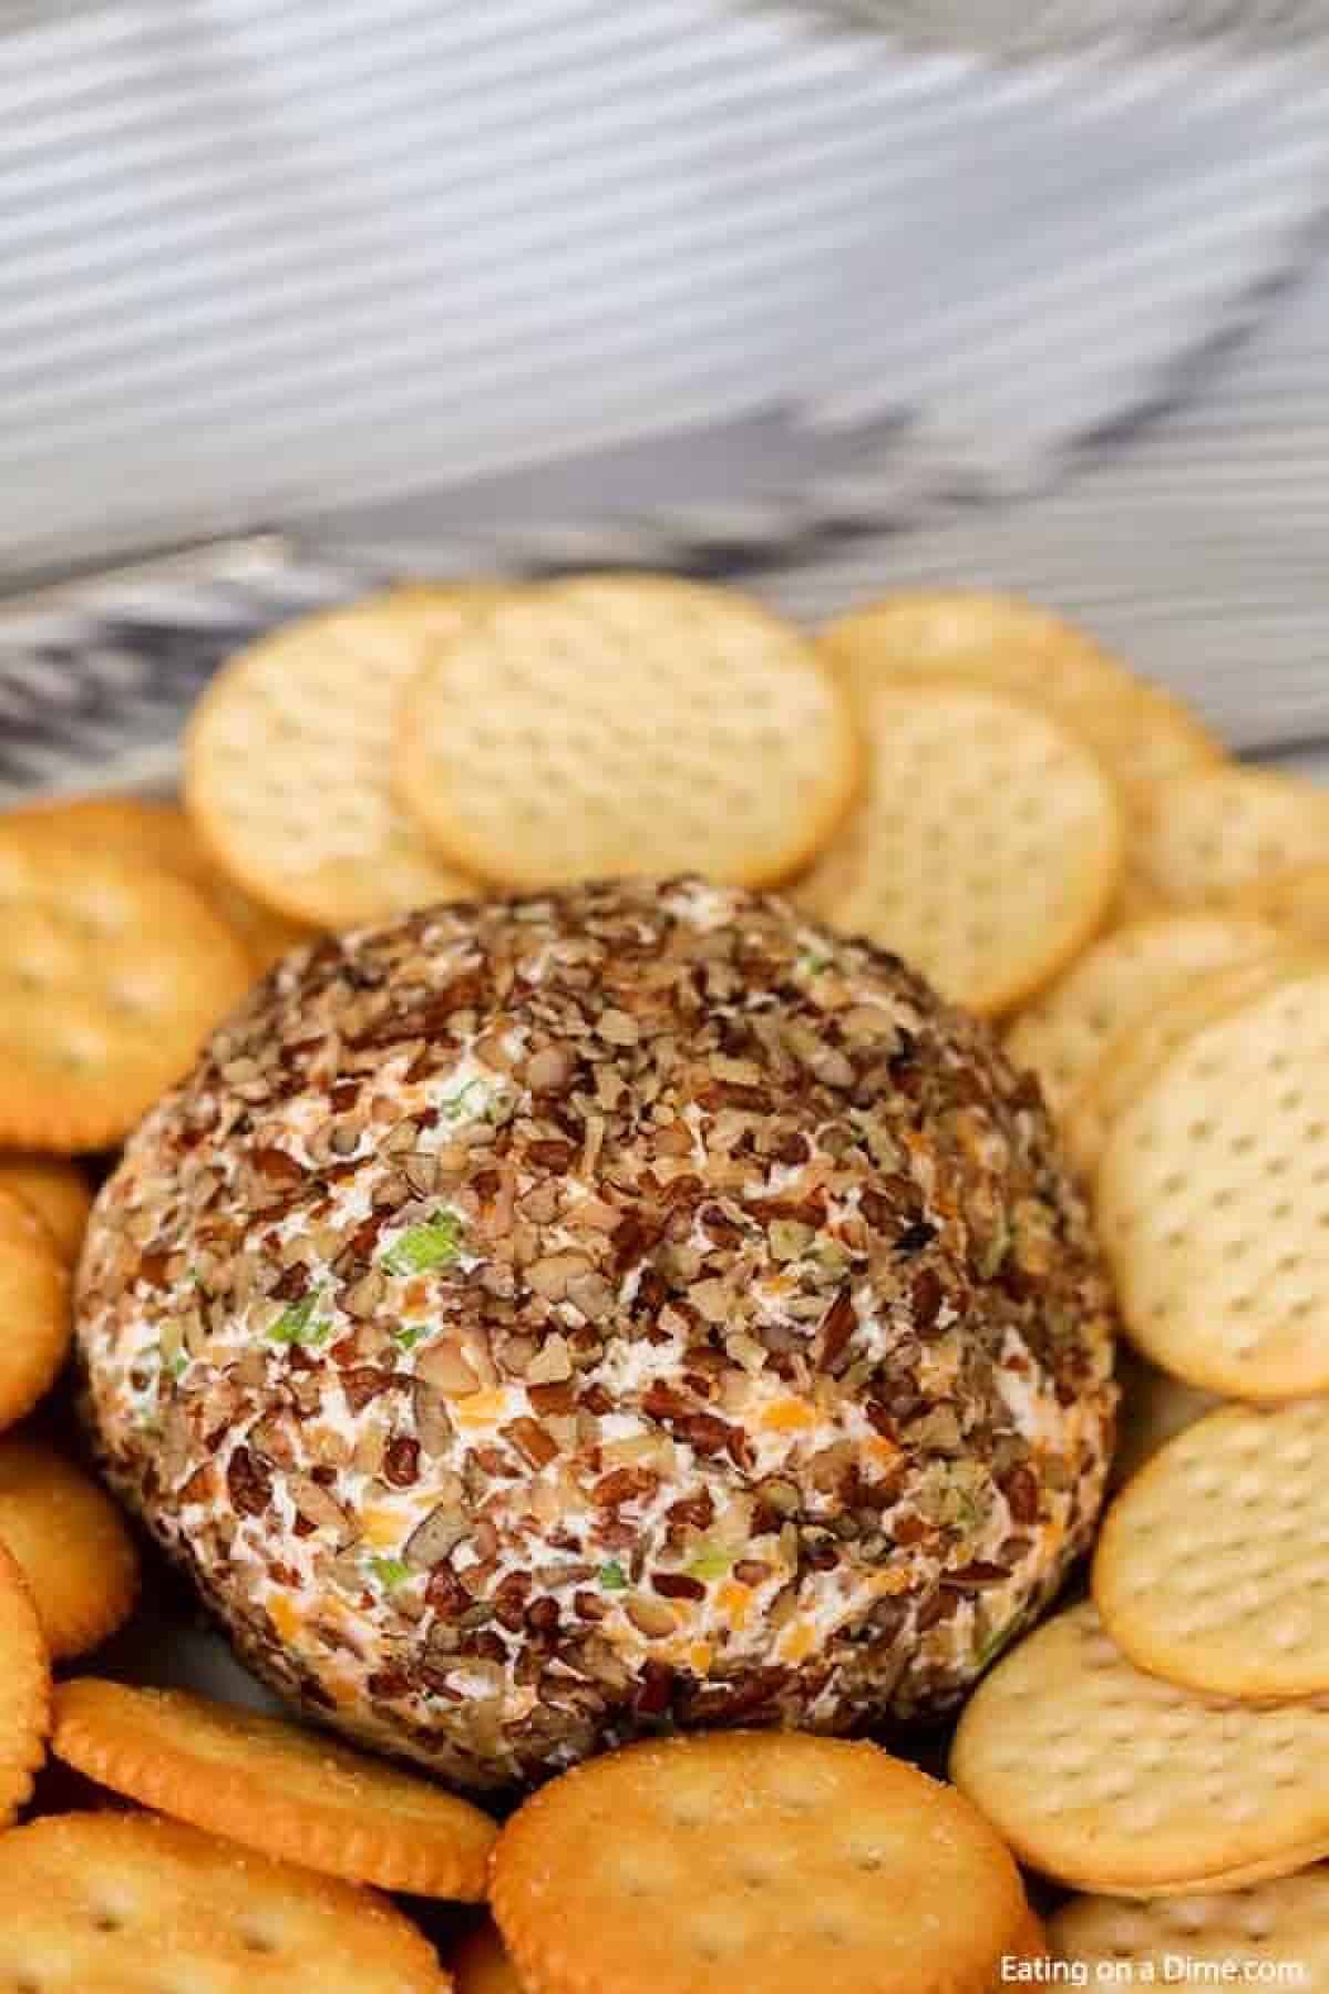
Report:
[[130,1141],[78,1318],[106,1468],[241,1655],[472,1789],[946,1709],[1112,1448],[1036,1081],[687,879],[291,955]]

